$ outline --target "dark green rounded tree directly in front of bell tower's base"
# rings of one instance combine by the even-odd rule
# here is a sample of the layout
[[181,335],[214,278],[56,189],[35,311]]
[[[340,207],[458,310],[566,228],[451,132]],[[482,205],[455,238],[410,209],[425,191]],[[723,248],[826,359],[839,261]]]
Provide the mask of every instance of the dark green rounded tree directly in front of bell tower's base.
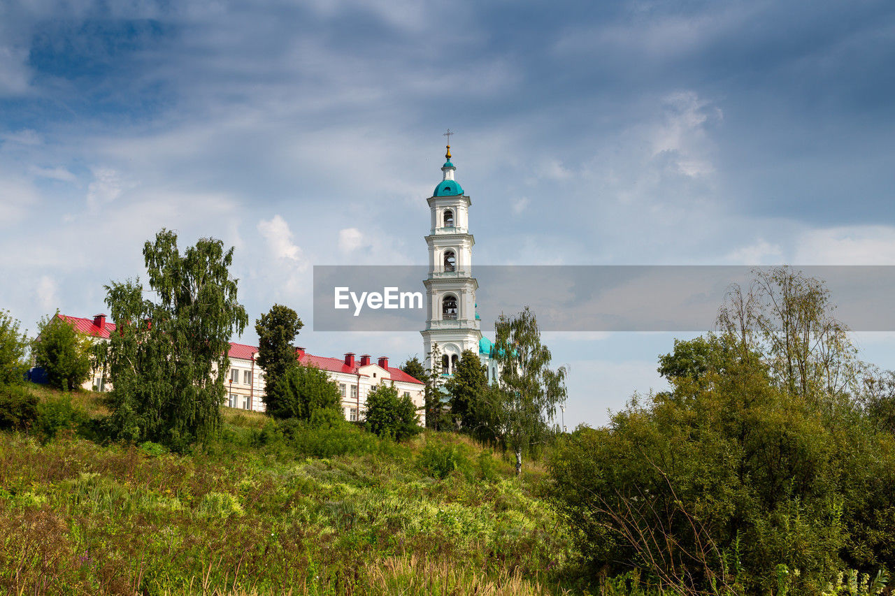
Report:
[[479,354],[464,350],[460,354],[454,376],[447,379],[445,388],[450,394],[450,414],[456,427],[482,437],[482,430],[491,420],[487,400],[488,377]]

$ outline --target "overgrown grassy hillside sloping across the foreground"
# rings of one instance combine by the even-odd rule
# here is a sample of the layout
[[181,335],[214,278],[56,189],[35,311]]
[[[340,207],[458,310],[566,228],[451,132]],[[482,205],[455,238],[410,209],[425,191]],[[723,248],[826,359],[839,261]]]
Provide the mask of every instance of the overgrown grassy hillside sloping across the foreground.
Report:
[[[100,412],[93,394],[72,401]],[[0,433],[0,591],[564,592],[570,541],[536,466],[516,480],[448,433],[286,441],[264,416],[224,410],[222,438],[191,456]]]

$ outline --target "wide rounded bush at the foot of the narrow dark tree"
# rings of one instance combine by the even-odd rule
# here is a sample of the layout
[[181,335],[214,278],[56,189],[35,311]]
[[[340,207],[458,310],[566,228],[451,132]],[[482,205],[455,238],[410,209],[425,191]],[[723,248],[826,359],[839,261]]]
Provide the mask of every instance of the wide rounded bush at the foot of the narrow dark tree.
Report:
[[274,418],[310,421],[321,410],[338,412],[341,396],[336,381],[313,366],[292,362],[272,387],[268,385],[264,403]]

